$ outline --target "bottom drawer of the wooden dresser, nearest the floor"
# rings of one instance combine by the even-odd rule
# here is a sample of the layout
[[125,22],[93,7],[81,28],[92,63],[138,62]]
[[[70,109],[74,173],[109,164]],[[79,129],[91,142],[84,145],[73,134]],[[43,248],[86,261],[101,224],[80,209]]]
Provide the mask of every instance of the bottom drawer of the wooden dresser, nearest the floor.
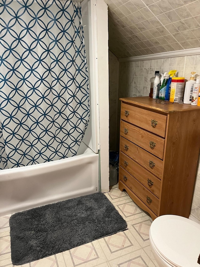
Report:
[[158,215],[159,199],[155,197],[146,187],[138,182],[132,175],[120,167],[119,180],[140,198],[156,215]]

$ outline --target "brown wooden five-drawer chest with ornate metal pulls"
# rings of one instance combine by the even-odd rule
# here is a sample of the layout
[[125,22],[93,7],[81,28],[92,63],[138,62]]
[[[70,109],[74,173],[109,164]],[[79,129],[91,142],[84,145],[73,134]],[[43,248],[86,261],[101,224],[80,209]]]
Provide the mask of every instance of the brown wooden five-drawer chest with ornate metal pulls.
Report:
[[188,218],[200,149],[200,108],[120,98],[119,189],[153,219]]

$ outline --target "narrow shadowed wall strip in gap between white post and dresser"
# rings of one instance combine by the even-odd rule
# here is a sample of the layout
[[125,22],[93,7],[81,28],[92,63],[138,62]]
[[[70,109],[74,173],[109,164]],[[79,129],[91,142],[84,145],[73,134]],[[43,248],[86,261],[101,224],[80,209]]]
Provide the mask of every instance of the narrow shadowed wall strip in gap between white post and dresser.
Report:
[[109,50],[109,150],[117,146],[118,58]]

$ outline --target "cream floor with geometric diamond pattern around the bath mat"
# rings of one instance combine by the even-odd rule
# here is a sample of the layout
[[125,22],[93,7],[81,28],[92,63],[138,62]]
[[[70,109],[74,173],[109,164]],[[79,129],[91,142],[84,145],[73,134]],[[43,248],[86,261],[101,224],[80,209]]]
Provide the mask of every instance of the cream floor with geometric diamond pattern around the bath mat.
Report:
[[[128,230],[21,267],[158,267],[149,245],[152,219],[118,186],[105,194],[127,221]],[[0,267],[11,262],[9,217],[0,217]]]

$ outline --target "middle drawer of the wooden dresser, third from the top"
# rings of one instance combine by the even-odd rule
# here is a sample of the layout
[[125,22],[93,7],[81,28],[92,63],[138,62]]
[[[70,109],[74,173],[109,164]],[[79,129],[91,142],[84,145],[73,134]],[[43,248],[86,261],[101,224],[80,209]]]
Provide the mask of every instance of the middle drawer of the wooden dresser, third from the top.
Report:
[[120,151],[161,179],[163,170],[163,161],[161,159],[136,146],[122,136],[120,137]]

